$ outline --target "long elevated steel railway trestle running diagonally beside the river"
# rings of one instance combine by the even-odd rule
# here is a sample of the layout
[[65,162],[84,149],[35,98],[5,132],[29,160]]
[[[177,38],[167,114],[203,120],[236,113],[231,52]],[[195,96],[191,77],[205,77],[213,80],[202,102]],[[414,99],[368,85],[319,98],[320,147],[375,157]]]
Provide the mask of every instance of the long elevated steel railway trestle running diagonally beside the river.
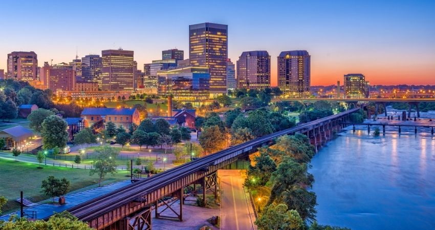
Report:
[[[222,151],[195,159],[192,162],[172,168],[155,176],[139,180],[124,188],[79,204],[67,211],[86,221],[96,229],[149,229],[151,228],[151,206],[156,206],[156,218],[171,218],[182,221],[184,188],[194,184],[201,185],[202,198],[206,202],[206,192],[217,194],[216,172],[238,159],[246,159],[249,154],[262,146],[274,144],[276,137],[304,133],[311,143],[320,146],[332,138],[349,122],[349,114],[359,108],[350,109],[329,117],[318,119],[296,127],[275,132],[257,139],[236,145]],[[197,186],[195,186],[196,188]],[[164,197],[180,199],[179,210],[171,207]],[[158,213],[157,204],[166,205],[175,216]]]

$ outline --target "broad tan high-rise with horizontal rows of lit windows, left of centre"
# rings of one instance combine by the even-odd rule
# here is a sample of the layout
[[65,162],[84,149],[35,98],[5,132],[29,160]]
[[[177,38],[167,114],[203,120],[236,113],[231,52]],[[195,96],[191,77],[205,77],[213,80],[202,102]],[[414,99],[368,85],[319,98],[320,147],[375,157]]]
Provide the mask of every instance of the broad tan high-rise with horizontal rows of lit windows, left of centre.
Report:
[[133,51],[103,50],[102,90],[133,90],[136,65]]

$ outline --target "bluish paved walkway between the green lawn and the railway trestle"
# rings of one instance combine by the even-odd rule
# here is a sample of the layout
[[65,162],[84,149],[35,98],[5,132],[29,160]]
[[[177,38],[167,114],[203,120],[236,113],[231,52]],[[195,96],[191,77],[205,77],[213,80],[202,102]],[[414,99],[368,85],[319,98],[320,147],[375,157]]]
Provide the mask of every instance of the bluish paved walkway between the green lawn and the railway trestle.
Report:
[[[47,218],[53,213],[60,213],[62,211],[65,211],[69,208],[72,208],[75,205],[78,205],[80,203],[86,202],[88,200],[92,200],[96,197],[102,196],[104,194],[110,193],[112,191],[115,191],[117,189],[120,189],[122,187],[125,187],[129,185],[130,180],[124,180],[116,183],[112,183],[111,185],[106,185],[103,187],[93,188],[90,190],[85,190],[77,193],[69,193],[65,196],[66,203],[63,205],[59,204],[47,204],[47,203],[40,203],[38,205],[32,206],[30,208],[24,209],[24,212],[36,212],[36,219],[44,219]],[[47,200],[46,200],[47,201]],[[44,202],[44,201],[42,201]],[[19,211],[11,214],[7,214],[0,217],[0,220],[8,220],[9,217],[13,214],[16,214],[19,216]]]

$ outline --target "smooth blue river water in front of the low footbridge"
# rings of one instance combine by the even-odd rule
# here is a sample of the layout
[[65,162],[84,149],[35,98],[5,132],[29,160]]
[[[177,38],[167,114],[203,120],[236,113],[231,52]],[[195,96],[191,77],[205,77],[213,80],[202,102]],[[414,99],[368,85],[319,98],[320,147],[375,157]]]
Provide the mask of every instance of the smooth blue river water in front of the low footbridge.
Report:
[[320,224],[435,229],[435,138],[430,133],[387,131],[382,136],[381,131],[374,137],[348,128],[339,135],[311,162]]

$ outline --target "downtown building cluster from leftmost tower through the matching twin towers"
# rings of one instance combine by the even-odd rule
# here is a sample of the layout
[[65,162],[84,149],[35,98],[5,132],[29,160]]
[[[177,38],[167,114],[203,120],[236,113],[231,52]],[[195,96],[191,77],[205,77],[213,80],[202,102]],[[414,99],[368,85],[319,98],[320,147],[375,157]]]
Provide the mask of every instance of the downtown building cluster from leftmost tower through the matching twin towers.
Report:
[[[267,51],[243,52],[236,65],[228,58],[228,26],[205,22],[189,26],[189,58],[184,51],[162,51],[162,59],[138,70],[134,51],[103,50],[76,56],[69,63],[44,62],[35,52],[8,54],[7,73],[0,78],[27,81],[62,96],[113,97],[135,93],[174,95],[185,102],[204,101],[236,88],[271,87],[271,56]],[[310,94],[310,55],[284,51],[277,56],[278,87],[285,95]],[[139,65],[141,66],[141,65]]]

